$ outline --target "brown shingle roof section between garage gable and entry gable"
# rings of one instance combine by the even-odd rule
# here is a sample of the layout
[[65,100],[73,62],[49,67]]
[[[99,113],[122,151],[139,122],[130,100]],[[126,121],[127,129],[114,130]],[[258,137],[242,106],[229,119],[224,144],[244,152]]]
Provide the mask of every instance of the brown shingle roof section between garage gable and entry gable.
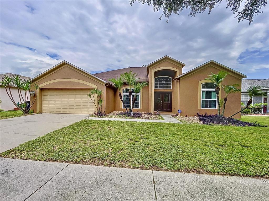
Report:
[[122,73],[129,72],[129,71],[133,71],[133,73],[137,73],[138,75],[136,76],[136,78],[140,78],[139,81],[148,82],[147,67],[121,68],[121,69],[112,70],[112,71],[95,73],[93,75],[97,76],[98,78],[100,78],[104,81],[107,81],[107,82],[113,84],[112,82],[108,81],[108,79],[117,78]]

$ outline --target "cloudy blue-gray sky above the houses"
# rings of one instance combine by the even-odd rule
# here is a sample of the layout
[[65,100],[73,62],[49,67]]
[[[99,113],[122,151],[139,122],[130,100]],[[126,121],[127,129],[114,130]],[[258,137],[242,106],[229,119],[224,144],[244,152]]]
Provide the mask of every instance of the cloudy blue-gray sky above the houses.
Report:
[[128,1],[1,1],[1,73],[34,77],[62,60],[95,73],[168,55],[186,63],[183,72],[213,59],[268,78],[268,11],[237,23],[222,1],[209,15],[183,11],[166,23]]

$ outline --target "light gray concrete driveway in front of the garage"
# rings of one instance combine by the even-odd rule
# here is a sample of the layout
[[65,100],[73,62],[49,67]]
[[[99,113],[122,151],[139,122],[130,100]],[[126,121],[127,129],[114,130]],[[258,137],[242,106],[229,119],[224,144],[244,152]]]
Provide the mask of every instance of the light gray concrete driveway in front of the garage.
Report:
[[82,119],[85,114],[36,114],[0,120],[0,153]]

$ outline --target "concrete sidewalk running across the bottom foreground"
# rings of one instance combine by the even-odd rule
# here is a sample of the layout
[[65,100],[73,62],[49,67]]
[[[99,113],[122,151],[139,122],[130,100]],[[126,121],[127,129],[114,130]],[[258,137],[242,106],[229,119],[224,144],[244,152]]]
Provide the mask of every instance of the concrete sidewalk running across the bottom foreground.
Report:
[[0,158],[0,200],[268,200],[269,180]]

